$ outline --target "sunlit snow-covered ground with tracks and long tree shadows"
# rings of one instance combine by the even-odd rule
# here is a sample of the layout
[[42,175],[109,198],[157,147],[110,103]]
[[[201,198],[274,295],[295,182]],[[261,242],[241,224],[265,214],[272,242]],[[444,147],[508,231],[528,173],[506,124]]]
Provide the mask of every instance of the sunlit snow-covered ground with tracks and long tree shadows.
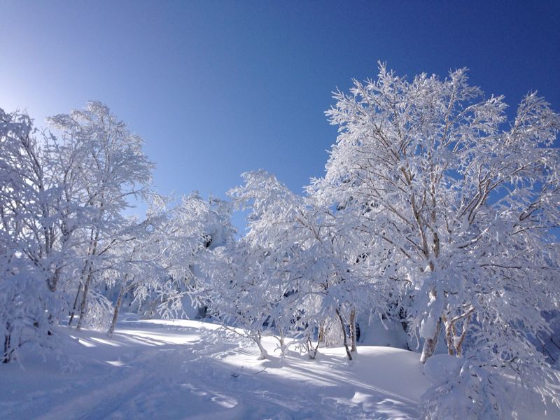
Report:
[[275,356],[257,360],[251,343],[185,320],[61,334],[72,363],[28,349],[0,366],[2,419],[411,419],[430,385],[417,353],[389,347],[282,360],[265,338]]

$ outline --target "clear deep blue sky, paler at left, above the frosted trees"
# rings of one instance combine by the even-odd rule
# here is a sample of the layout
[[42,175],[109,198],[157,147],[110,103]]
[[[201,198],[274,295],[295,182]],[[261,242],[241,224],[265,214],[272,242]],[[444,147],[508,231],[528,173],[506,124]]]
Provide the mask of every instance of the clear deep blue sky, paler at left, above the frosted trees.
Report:
[[[220,197],[267,169],[296,192],[336,139],[330,92],[377,73],[445,76],[560,111],[560,1],[0,0],[0,107],[105,102],[146,140],[161,193]],[[240,218],[236,220],[242,225]]]

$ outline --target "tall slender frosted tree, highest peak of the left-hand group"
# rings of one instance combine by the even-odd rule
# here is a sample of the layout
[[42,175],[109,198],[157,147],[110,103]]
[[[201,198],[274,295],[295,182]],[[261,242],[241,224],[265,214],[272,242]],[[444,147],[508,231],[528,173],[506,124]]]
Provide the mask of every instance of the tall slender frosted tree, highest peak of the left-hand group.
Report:
[[81,111],[48,120],[64,144],[78,145],[81,151],[79,170],[85,193],[81,211],[87,222],[80,228],[88,239],[75,299],[76,304],[80,302],[80,328],[87,313],[90,285],[106,268],[105,256],[127,239],[131,226],[123,210],[130,207],[128,200],[146,193],[153,164],[141,150],[141,137],[132,134],[100,102],[88,102]]

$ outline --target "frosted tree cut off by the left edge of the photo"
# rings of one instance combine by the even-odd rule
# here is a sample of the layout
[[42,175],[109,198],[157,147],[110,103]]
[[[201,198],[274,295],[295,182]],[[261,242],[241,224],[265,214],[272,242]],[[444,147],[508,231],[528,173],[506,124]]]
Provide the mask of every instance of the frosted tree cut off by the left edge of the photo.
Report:
[[[39,137],[38,137],[39,136]],[[64,310],[59,282],[75,268],[79,239],[71,162],[22,113],[0,109],[0,293],[3,360],[25,342],[48,345]]]

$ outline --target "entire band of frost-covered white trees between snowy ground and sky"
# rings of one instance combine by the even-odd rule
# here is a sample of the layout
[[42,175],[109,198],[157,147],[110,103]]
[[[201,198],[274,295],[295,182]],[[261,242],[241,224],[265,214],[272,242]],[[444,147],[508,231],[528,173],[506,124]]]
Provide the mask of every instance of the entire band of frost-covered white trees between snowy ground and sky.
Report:
[[[423,395],[428,419],[504,418],[521,397],[560,406],[560,348],[545,351],[560,309],[559,114],[531,93],[510,120],[465,69],[408,80],[380,64],[334,100],[322,178],[300,195],[248,172],[229,200],[159,195],[144,141],[102,103],[45,129],[0,109],[1,360],[59,351],[63,328],[111,335],[123,307],[219,321],[261,358],[266,335],[282,357],[335,345],[353,359],[358,330],[381,323],[421,363],[456,360]],[[125,216],[135,201],[144,218]],[[526,392],[505,392],[512,378]]]

